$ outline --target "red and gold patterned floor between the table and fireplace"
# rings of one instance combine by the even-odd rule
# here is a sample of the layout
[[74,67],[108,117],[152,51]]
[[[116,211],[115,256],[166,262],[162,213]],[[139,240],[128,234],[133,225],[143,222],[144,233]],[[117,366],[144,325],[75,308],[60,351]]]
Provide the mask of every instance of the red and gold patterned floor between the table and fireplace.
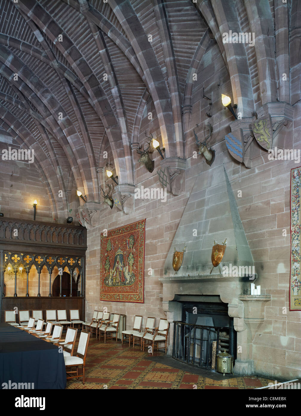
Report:
[[[77,345],[74,348],[76,351]],[[163,353],[154,353],[164,355]],[[90,338],[86,357],[86,384],[82,379],[67,381],[67,389],[255,389],[271,379],[237,377],[217,381],[145,359],[147,352],[128,343],[95,341]],[[193,370],[192,370],[193,371]]]

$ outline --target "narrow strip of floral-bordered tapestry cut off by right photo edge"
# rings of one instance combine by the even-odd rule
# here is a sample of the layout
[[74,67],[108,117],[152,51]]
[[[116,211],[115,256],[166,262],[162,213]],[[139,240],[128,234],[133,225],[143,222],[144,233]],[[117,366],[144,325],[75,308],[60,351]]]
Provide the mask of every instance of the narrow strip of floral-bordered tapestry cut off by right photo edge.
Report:
[[301,166],[291,169],[291,275],[290,310],[301,310],[300,260],[300,185]]

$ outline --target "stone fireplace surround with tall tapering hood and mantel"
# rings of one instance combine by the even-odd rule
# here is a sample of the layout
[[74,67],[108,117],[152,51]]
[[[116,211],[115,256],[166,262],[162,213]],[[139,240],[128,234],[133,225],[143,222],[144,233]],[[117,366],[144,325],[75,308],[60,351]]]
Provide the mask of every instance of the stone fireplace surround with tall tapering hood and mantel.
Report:
[[[222,273],[215,267],[210,274],[214,241],[221,244],[225,238]],[[183,262],[176,273],[172,267],[174,248],[181,251],[185,245]],[[250,283],[257,279],[257,273],[231,273],[235,267],[247,270],[250,266],[254,266],[252,253],[224,166],[215,168],[214,177],[210,171],[200,173],[166,258],[164,276],[159,279],[163,283],[163,310],[171,323],[168,354],[173,349],[173,322],[183,319],[183,302],[220,303],[232,318],[236,332],[234,373],[254,374],[252,341],[264,321],[264,306],[270,295],[250,295]]]

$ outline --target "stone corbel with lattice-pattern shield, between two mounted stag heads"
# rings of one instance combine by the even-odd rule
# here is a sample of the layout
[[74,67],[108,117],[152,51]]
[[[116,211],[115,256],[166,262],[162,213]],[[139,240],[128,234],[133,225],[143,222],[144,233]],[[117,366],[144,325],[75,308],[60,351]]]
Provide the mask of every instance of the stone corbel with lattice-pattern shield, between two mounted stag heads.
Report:
[[173,195],[181,193],[181,187],[186,170],[186,160],[181,158],[165,158],[160,162],[161,168],[157,170],[159,182]]

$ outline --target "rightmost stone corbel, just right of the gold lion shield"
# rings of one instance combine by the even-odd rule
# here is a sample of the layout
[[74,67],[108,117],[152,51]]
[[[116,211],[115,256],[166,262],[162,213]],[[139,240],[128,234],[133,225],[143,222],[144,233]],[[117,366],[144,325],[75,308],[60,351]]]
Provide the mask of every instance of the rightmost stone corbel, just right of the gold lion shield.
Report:
[[290,137],[294,107],[286,102],[272,102],[264,104],[257,111],[257,117],[270,116],[272,119],[273,141],[272,146],[285,149],[286,138]]

